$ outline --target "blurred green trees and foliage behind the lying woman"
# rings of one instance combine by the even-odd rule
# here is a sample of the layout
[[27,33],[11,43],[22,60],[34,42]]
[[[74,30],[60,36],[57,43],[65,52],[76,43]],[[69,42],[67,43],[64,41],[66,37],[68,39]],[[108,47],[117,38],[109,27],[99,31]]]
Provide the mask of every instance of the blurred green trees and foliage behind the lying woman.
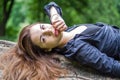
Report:
[[[120,0],[52,0],[63,10],[68,26],[104,22],[120,26]],[[17,41],[20,30],[28,24],[47,22],[43,7],[51,0],[1,0],[0,39]]]

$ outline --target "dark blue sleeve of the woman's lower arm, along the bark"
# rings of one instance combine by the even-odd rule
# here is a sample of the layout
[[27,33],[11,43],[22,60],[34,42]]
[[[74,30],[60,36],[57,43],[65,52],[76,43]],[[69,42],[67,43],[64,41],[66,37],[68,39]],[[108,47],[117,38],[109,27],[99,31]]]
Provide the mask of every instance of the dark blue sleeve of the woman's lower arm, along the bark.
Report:
[[75,54],[69,57],[76,59],[80,64],[87,64],[102,73],[120,77],[119,61],[112,57],[108,57],[105,53],[102,53],[87,42],[81,41],[80,46],[76,46],[75,48],[78,47],[79,49],[76,50]]

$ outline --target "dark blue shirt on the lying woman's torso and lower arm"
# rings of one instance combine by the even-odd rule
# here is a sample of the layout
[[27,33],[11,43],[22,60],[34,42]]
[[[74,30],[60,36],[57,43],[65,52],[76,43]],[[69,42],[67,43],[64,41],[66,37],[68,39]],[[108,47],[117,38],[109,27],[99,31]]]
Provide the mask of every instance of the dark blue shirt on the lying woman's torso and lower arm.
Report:
[[[102,73],[120,77],[120,63],[117,60],[120,60],[120,29],[103,23],[83,25],[88,29],[76,34],[63,48],[56,48],[56,51]],[[75,25],[67,31],[71,31],[77,26],[79,25]],[[92,26],[99,29],[92,30],[89,28]]]

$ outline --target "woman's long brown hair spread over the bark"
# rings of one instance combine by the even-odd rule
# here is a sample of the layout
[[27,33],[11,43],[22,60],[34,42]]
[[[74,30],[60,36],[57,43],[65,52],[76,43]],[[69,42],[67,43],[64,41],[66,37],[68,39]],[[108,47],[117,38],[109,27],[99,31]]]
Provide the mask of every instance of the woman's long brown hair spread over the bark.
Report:
[[4,64],[4,80],[54,80],[66,73],[51,53],[44,53],[31,42],[31,26],[22,29],[16,46],[1,57],[2,63],[2,59],[7,62]]

